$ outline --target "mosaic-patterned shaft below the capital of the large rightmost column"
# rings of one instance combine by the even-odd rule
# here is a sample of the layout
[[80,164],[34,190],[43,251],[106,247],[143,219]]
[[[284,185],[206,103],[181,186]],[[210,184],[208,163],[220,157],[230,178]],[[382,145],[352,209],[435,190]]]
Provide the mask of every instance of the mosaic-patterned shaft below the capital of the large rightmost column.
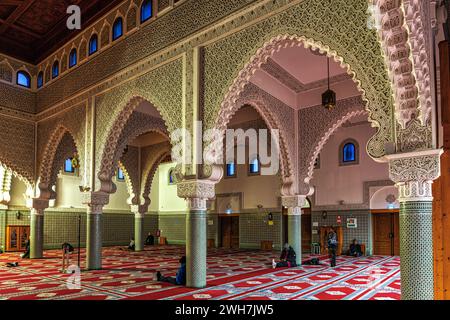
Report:
[[402,300],[433,300],[432,202],[400,203]]

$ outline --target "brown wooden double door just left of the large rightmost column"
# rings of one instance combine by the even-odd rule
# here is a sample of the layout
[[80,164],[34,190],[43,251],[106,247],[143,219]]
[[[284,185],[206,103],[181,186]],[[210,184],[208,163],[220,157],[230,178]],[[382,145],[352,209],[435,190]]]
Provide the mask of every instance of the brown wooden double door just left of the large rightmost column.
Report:
[[372,212],[373,253],[382,256],[400,255],[399,213]]

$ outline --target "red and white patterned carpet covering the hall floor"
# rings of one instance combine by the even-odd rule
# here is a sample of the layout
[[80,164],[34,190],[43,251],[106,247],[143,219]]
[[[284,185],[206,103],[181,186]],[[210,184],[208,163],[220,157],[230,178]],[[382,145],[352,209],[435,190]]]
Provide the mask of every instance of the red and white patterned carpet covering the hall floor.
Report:
[[[174,276],[183,246],[148,246],[142,252],[103,249],[103,270],[82,271],[81,287],[69,289],[61,252],[22,260],[0,254],[0,300],[400,300],[400,258],[340,256],[337,267],[322,265],[272,269],[279,253],[257,250],[208,251],[208,286],[191,289],[154,281],[160,270]],[[304,255],[303,261],[310,258]],[[7,262],[19,262],[15,268]],[[84,250],[81,255],[84,265]],[[77,254],[71,262],[77,263]]]

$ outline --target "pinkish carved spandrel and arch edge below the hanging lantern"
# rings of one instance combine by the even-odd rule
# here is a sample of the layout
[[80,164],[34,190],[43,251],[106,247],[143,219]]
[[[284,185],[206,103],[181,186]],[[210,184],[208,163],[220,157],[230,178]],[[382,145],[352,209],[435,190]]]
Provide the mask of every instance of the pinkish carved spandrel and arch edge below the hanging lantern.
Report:
[[[311,195],[309,182],[314,173],[314,162],[328,139],[349,119],[367,114],[361,97],[352,97],[337,102],[336,108],[326,110],[321,105],[301,109],[299,121],[299,193]],[[372,139],[378,139],[377,136]],[[388,141],[375,141],[384,144]],[[369,142],[370,143],[370,142]]]

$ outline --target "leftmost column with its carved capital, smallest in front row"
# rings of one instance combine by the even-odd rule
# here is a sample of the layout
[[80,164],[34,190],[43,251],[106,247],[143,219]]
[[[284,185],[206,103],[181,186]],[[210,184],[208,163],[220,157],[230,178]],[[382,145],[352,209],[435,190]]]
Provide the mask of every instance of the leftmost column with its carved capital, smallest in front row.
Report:
[[30,258],[40,259],[44,256],[44,210],[48,200],[33,199],[30,214]]

